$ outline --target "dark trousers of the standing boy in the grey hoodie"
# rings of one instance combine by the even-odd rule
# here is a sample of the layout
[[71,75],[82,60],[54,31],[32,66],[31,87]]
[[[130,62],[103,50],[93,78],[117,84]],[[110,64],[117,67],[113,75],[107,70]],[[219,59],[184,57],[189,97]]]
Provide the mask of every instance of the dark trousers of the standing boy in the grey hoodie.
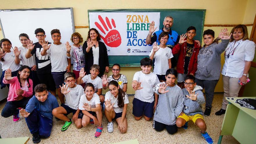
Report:
[[201,80],[201,79],[195,79],[195,82],[198,86],[201,86],[203,89],[205,88],[205,101],[206,107],[212,107],[212,101],[213,101],[213,96],[214,96],[214,89],[216,84],[218,83],[218,80]]

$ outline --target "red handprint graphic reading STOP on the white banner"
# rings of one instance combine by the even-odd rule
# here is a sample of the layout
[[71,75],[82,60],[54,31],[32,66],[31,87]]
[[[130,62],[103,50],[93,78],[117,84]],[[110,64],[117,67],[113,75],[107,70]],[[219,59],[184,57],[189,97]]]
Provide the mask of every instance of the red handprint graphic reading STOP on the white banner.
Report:
[[[108,29],[106,23],[104,22],[104,20],[102,19],[102,17],[100,15],[98,15],[98,18],[99,18],[99,21],[101,22],[101,24],[103,25],[104,29],[106,30],[106,32],[108,32],[106,37],[103,37],[102,35],[100,35],[102,40],[104,40],[105,44],[109,47],[118,47],[121,44],[121,35],[120,35],[119,31],[112,29],[111,23],[112,23],[113,27],[115,28],[114,19],[111,19],[111,23],[110,23],[109,18],[108,17],[105,18],[109,29],[111,29],[111,31],[109,31],[109,29]],[[104,29],[98,22],[95,22],[95,25],[102,33],[106,34]]]

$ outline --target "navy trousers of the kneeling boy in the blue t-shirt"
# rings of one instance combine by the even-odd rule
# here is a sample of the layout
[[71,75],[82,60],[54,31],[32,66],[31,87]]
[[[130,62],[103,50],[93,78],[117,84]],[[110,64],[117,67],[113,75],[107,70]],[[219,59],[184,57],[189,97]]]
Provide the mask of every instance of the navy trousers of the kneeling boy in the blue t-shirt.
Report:
[[39,132],[41,138],[47,138],[51,134],[52,119],[42,116],[37,110],[33,110],[30,115],[25,118],[31,134]]

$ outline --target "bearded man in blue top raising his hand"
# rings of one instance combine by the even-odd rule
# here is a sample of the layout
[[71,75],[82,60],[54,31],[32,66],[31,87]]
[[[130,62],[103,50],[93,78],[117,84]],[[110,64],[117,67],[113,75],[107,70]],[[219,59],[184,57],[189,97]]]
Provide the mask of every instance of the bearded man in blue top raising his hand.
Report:
[[[168,41],[166,42],[166,46],[173,49],[174,45],[176,45],[177,42],[179,42],[179,34],[176,31],[173,31],[171,29],[172,26],[173,26],[173,17],[167,16],[163,20],[163,29],[154,32],[157,29],[157,27],[155,27],[155,22],[152,21],[149,27],[149,33],[146,38],[146,44],[152,45],[154,42],[157,41],[159,45],[160,42],[158,40],[158,37],[163,31],[166,31],[169,33],[169,38],[168,38]],[[178,55],[177,56],[174,55],[174,57],[171,58],[172,68],[174,68],[177,65],[177,60],[176,60],[177,58],[178,58]]]

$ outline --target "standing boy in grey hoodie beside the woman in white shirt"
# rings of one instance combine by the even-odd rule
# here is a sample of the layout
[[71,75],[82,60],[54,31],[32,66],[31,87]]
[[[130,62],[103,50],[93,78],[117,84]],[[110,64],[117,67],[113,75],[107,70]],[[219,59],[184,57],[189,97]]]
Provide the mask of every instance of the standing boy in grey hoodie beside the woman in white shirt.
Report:
[[198,53],[197,71],[195,72],[195,82],[205,88],[206,105],[205,116],[211,113],[211,104],[214,96],[214,88],[220,78],[221,73],[221,53],[226,49],[231,35],[226,30],[221,30],[217,40],[214,42],[214,31],[207,29],[203,33],[205,45]]

